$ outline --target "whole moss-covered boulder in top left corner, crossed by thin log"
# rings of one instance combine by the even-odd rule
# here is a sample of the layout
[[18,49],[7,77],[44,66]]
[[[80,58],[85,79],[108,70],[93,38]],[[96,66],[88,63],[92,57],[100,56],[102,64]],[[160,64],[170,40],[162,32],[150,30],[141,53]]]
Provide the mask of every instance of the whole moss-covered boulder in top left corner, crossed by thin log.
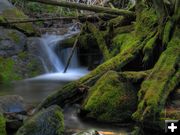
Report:
[[[22,11],[15,8],[8,2],[8,0],[1,1],[0,5],[3,5],[3,8],[0,8],[0,23],[11,22],[18,19],[28,19],[28,16],[26,16]],[[19,29],[20,31],[23,31],[27,35],[35,34],[35,29],[33,28],[32,23],[16,23],[9,25]]]

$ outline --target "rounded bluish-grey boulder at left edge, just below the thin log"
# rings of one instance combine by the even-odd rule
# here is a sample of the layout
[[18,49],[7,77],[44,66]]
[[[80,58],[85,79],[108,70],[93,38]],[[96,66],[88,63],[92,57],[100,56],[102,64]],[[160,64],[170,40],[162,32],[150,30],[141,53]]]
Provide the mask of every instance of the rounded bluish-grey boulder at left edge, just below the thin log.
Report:
[[0,27],[0,56],[9,57],[22,52],[26,40],[26,36],[19,31]]

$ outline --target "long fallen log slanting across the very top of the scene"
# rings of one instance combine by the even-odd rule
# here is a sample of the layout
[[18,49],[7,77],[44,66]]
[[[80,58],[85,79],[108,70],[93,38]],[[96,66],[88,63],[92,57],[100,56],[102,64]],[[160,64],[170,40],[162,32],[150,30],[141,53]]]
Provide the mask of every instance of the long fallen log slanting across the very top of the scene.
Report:
[[29,1],[39,2],[43,4],[54,5],[54,6],[74,8],[74,9],[79,9],[79,10],[88,10],[88,11],[99,12],[99,13],[115,14],[115,15],[129,16],[129,17],[135,16],[134,12],[131,12],[128,10],[112,9],[112,8],[101,7],[101,6],[86,5],[82,3],[73,3],[73,2],[55,1],[55,0],[48,0],[48,1],[47,0],[29,0]]

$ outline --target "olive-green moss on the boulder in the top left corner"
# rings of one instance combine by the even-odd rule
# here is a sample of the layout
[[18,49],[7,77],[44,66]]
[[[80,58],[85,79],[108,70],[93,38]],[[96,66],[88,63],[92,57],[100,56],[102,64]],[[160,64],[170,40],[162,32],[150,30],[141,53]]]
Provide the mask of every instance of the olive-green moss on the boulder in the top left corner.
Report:
[[[16,8],[4,10],[2,14],[0,15],[0,18],[2,18],[1,21],[3,20],[12,21],[13,19],[15,20],[28,19],[28,17],[22,11]],[[32,23],[19,23],[19,24],[10,24],[10,25],[18,28],[19,30],[29,35],[32,35],[35,33]]]

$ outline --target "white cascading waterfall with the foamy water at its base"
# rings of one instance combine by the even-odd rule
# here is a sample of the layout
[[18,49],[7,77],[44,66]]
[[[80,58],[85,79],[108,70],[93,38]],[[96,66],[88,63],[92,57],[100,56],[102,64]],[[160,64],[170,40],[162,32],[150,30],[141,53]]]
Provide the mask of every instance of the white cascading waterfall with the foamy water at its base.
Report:
[[39,57],[46,73],[28,80],[73,81],[87,74],[88,70],[79,65],[77,50],[73,54],[66,73],[63,71],[72,49],[60,49],[60,52],[57,52],[57,46],[60,48],[61,41],[76,33],[78,31],[69,30],[65,35],[42,35]]

